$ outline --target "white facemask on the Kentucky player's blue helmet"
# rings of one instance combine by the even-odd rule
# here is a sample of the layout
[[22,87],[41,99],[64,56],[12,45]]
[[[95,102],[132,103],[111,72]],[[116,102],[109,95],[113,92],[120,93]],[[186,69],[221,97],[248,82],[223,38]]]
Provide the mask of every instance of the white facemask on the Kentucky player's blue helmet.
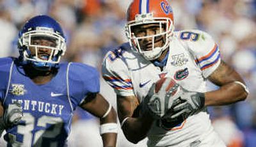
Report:
[[[33,43],[35,38],[53,40],[54,45],[40,45]],[[65,54],[65,39],[51,28],[39,27],[35,31],[28,31],[19,38],[20,56],[24,62],[30,62],[39,68],[51,68],[60,62]],[[40,55],[40,49],[51,50],[49,53]]]

